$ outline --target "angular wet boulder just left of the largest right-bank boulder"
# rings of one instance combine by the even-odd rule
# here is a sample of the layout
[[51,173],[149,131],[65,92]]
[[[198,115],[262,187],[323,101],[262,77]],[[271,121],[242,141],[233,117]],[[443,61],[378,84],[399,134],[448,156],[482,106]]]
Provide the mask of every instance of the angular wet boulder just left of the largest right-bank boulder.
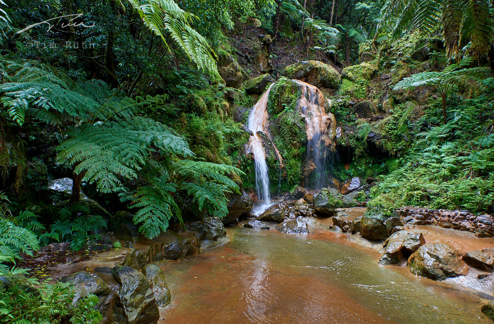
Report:
[[384,241],[384,253],[379,260],[381,266],[397,264],[425,244],[422,233],[398,231]]

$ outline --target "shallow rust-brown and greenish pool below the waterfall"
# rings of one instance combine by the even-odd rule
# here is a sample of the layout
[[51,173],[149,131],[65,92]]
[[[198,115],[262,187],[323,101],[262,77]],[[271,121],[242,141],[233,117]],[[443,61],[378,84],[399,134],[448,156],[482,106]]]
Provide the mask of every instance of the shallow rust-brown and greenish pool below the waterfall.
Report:
[[475,292],[379,267],[379,254],[346,235],[228,235],[201,256],[161,264],[172,302],[160,324],[491,323]]

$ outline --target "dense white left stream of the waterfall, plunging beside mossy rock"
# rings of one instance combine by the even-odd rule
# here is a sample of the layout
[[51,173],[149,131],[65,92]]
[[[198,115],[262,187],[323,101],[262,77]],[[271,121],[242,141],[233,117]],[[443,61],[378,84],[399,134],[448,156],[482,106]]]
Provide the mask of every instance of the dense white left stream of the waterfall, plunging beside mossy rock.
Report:
[[[266,153],[262,147],[262,140],[257,135],[257,132],[264,132],[264,123],[267,120],[268,113],[266,111],[266,105],[268,103],[269,91],[271,90],[271,84],[265,93],[259,98],[259,101],[252,107],[250,114],[248,115],[248,128],[252,131],[250,136],[250,145],[252,147],[252,153],[254,154],[254,169],[255,169],[255,187],[257,196],[261,201],[261,206],[257,213],[262,213],[267,207],[271,205],[271,198],[269,195],[269,176],[268,165],[266,164]],[[281,161],[280,161],[281,163]],[[262,210],[262,211],[261,211]]]

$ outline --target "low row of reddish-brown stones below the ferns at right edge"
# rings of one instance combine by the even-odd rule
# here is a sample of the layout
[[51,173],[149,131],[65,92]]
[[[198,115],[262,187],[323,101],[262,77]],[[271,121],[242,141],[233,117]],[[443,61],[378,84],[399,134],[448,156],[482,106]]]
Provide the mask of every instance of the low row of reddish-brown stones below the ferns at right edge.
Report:
[[396,210],[396,214],[412,225],[437,225],[445,229],[470,231],[477,237],[494,236],[494,218],[492,215],[474,215],[468,211],[426,209],[404,207]]

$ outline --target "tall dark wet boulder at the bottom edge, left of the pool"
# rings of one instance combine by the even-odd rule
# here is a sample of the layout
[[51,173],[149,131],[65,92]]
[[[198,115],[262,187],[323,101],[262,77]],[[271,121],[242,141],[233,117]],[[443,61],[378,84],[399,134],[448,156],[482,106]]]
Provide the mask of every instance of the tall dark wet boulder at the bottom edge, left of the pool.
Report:
[[160,311],[146,276],[133,268],[117,266],[113,268],[113,277],[120,287],[119,297],[128,324],[158,323]]

